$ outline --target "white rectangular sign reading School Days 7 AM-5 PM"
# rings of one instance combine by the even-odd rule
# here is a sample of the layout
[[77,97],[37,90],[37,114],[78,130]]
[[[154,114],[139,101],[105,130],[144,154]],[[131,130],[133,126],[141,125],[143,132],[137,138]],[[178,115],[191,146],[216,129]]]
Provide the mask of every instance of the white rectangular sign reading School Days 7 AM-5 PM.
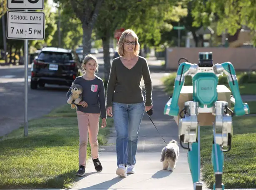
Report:
[[45,13],[7,11],[8,39],[45,39]]

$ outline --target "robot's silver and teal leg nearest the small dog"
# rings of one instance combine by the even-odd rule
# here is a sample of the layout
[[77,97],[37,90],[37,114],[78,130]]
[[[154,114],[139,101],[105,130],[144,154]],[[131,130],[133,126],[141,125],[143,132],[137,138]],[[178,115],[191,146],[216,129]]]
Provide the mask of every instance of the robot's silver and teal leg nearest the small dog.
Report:
[[179,140],[182,143],[191,143],[189,149],[188,163],[194,184],[194,190],[201,190],[200,183],[200,128],[197,121],[198,102],[185,102],[184,117],[179,120]]

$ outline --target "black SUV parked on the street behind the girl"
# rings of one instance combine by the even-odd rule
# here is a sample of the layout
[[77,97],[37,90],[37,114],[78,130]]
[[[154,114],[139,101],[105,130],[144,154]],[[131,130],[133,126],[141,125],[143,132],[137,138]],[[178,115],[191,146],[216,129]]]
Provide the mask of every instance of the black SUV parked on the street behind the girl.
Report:
[[31,66],[30,88],[37,89],[37,85],[58,84],[71,86],[79,76],[80,59],[70,49],[45,47]]

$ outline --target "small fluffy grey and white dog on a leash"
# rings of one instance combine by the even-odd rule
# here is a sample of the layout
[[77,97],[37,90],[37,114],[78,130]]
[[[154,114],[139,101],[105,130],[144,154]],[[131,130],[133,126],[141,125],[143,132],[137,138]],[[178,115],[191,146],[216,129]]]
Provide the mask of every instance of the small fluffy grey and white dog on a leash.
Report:
[[167,146],[162,149],[160,161],[163,162],[163,169],[173,171],[179,157],[179,146],[177,141],[171,140]]

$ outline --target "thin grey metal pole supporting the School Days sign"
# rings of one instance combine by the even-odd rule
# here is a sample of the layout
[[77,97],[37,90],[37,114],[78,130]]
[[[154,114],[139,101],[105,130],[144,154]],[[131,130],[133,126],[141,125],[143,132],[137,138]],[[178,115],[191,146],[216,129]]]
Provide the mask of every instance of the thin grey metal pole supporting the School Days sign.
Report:
[[[26,12],[28,10],[25,10]],[[27,104],[28,104],[28,39],[24,43],[24,57],[25,57],[25,123],[24,123],[24,136],[28,136],[28,119],[27,119]]]

